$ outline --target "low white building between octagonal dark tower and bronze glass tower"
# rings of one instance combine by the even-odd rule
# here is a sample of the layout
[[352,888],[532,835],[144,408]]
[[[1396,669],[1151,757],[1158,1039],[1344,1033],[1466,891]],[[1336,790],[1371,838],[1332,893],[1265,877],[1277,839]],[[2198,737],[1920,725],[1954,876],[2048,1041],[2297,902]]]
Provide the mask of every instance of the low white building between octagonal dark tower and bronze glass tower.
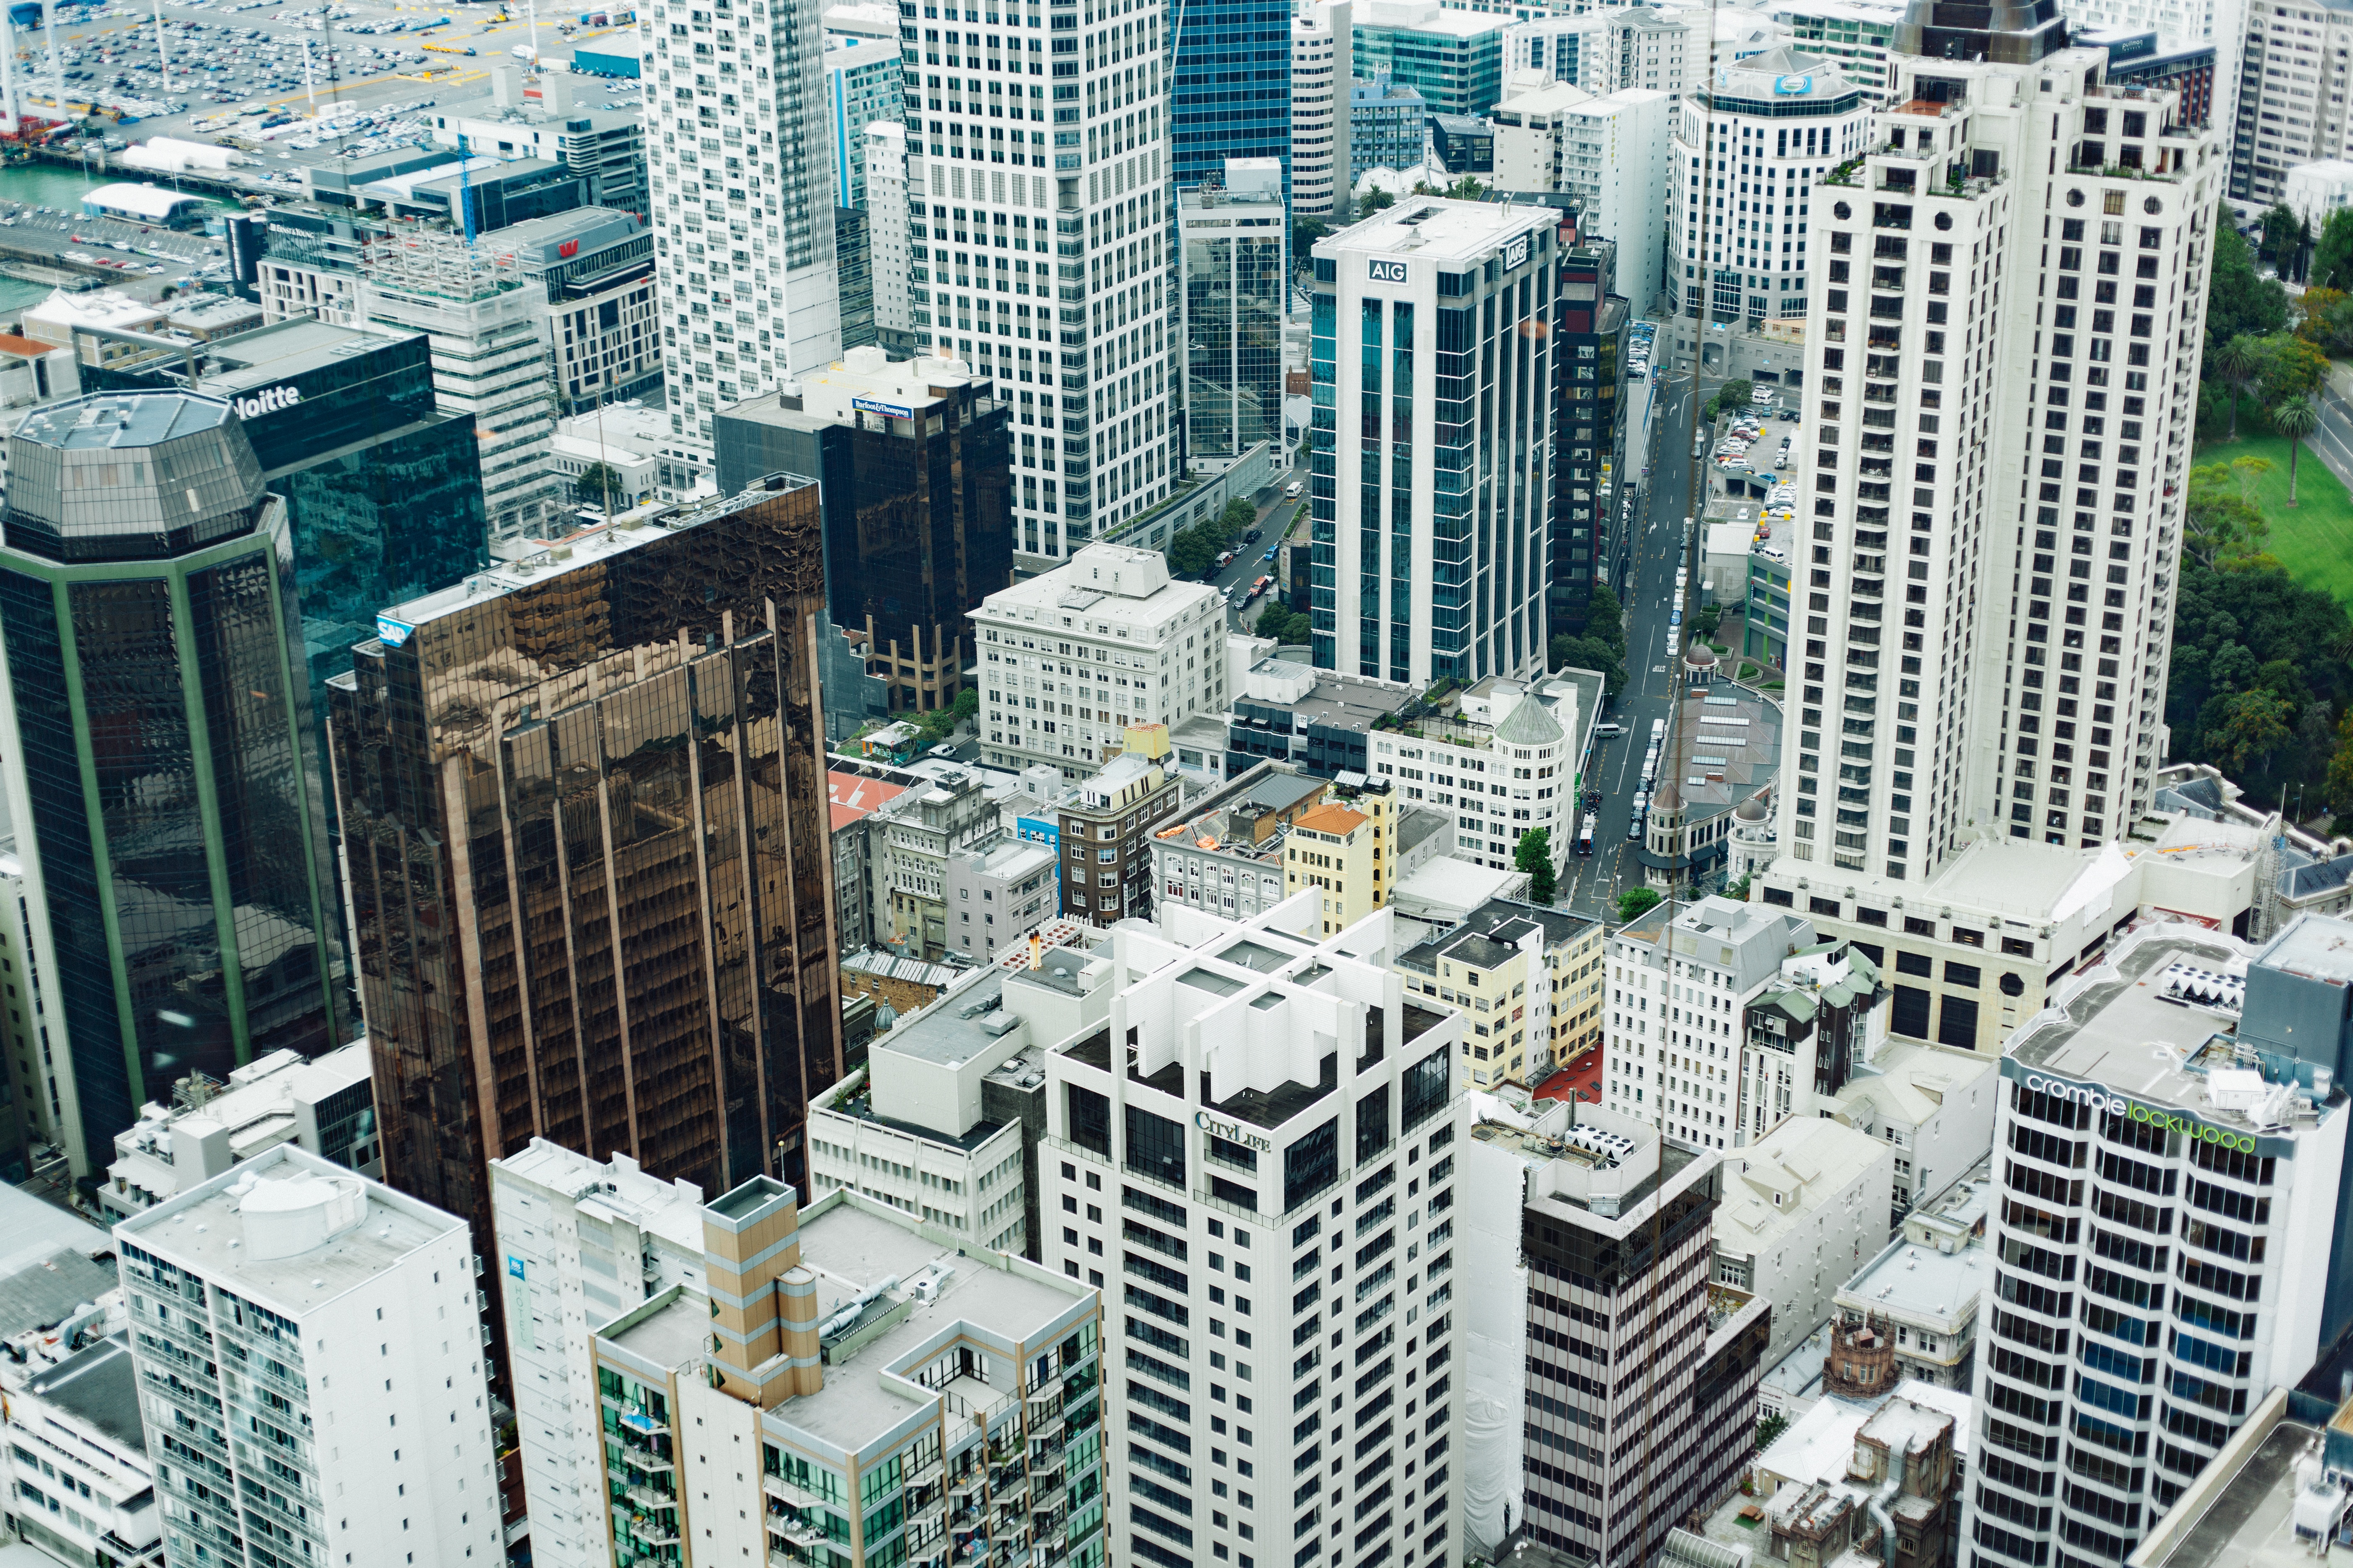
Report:
[[191,1074],[174,1084],[172,1105],[148,1100],[139,1124],[115,1133],[99,1213],[129,1218],[285,1143],[384,1178],[365,1039],[313,1060],[271,1051],[231,1070],[226,1084]]

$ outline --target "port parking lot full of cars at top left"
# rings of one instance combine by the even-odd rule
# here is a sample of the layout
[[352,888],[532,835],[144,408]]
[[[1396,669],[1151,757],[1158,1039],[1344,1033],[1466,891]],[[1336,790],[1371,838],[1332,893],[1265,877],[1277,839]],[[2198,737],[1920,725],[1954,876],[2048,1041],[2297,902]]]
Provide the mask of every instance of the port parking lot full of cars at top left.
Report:
[[[544,12],[539,49],[565,59],[572,45],[614,31],[565,33],[579,14]],[[252,160],[238,174],[261,188],[299,188],[299,162],[419,143],[435,103],[482,96],[492,66],[520,63],[515,49],[529,54],[520,5],[174,0],[162,19],[158,52],[153,7],[61,5],[54,35],[66,108],[127,115],[108,136],[111,150],[148,136],[235,146]],[[19,28],[16,52],[28,108],[56,113],[49,35]],[[638,101],[638,82],[581,78],[574,87],[579,103]]]

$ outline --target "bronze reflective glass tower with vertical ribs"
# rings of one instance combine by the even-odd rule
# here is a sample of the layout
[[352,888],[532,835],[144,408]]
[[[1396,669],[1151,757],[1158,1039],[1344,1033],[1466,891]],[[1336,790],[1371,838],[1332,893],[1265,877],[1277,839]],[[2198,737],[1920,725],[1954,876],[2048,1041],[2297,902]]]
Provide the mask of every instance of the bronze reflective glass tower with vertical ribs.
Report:
[[824,576],[816,487],[765,484],[388,609],[329,682],[386,1173],[478,1232],[534,1135],[805,1180],[842,1065]]

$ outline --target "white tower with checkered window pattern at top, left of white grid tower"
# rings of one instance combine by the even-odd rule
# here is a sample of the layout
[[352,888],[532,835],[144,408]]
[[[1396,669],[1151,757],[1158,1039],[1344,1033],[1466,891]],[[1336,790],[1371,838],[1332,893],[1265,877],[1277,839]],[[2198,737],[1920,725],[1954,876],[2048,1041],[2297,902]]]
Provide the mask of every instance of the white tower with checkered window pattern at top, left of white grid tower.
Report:
[[671,428],[842,357],[833,113],[819,7],[654,0],[647,183]]

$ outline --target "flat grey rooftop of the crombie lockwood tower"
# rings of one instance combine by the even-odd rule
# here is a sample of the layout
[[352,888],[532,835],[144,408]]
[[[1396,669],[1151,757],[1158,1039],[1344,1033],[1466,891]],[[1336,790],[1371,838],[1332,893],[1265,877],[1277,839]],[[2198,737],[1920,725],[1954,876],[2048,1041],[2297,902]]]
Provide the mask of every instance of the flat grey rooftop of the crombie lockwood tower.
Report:
[[[2266,1084],[2254,1051],[2228,1034],[2235,1016],[2165,983],[2174,964],[2221,971],[2240,959],[2242,945],[2198,926],[2144,926],[2087,983],[2064,985],[2052,1006],[2009,1037],[2005,1056],[2219,1126],[2275,1138],[2311,1131],[2308,1114],[2297,1121],[2292,1086]],[[2341,1107],[2339,1093],[2320,1117]]]

